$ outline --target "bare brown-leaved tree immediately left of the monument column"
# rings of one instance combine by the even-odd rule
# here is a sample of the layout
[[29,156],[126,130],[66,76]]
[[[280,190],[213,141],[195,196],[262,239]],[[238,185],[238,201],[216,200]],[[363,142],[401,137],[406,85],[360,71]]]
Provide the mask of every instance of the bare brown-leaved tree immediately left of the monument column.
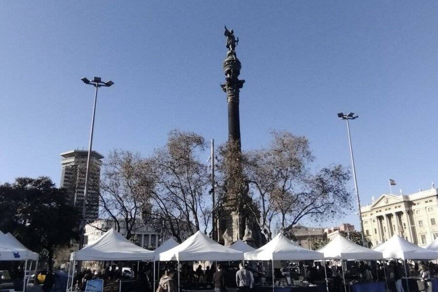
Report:
[[153,206],[150,216],[165,222],[170,234],[180,242],[187,233],[200,230],[202,220],[206,233],[211,217],[211,209],[204,202],[208,169],[199,157],[205,147],[202,136],[173,130],[166,146],[156,149],[142,164],[143,180],[153,182],[148,190]]

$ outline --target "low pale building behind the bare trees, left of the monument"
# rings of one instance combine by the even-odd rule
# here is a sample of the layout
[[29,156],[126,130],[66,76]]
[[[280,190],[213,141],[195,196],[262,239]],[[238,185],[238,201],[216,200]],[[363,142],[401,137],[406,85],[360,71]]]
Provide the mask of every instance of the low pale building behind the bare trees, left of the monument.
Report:
[[[126,225],[120,221],[120,234],[126,235]],[[101,237],[105,230],[115,227],[114,221],[108,219],[95,220],[85,226],[85,243],[84,246],[96,242]],[[134,234],[130,240],[140,247],[148,250],[154,250],[161,245],[161,238],[153,228],[142,223],[135,224],[131,232]]]

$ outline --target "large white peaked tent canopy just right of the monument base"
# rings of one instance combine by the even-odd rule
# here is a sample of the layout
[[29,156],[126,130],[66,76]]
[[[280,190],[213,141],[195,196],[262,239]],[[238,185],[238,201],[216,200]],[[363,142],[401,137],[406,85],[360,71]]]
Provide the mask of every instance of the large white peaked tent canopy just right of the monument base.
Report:
[[259,249],[245,253],[243,258],[245,260],[311,260],[324,259],[324,255],[298,246],[279,233]]

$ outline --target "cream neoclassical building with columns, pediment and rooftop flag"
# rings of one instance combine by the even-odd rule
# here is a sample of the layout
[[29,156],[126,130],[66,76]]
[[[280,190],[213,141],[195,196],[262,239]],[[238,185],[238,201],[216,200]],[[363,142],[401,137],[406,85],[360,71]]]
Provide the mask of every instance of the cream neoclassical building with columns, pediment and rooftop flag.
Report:
[[438,189],[410,195],[383,194],[361,208],[364,231],[374,246],[394,234],[422,247],[438,237]]

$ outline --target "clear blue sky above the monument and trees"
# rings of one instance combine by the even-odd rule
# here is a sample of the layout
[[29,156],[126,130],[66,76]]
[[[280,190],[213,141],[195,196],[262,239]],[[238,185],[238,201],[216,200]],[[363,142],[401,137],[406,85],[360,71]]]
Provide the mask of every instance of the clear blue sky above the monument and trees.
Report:
[[[60,179],[59,153],[147,155],[169,130],[227,138],[219,84],[223,25],[240,38],[242,147],[270,129],[306,135],[317,164],[350,165],[351,123],[363,204],[438,183],[438,4],[434,1],[1,1],[0,182]],[[208,156],[208,154],[206,154]],[[351,182],[351,187],[353,183]],[[341,221],[357,225],[351,214]]]

